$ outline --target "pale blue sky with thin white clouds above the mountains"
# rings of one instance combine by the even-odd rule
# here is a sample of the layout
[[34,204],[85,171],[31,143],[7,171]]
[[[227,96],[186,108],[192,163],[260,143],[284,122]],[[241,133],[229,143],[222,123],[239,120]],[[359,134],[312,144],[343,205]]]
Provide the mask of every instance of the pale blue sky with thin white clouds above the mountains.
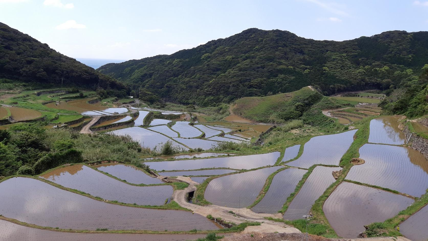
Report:
[[346,40],[428,30],[415,0],[0,0],[0,22],[74,58],[172,54],[257,27]]

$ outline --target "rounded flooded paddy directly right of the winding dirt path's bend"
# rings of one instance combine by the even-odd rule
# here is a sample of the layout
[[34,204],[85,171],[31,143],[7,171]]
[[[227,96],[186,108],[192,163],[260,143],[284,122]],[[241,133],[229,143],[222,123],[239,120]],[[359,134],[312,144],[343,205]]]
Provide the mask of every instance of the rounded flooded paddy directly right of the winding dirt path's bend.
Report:
[[273,166],[215,178],[205,190],[205,199],[215,205],[243,208],[256,201],[266,178],[281,166]]

